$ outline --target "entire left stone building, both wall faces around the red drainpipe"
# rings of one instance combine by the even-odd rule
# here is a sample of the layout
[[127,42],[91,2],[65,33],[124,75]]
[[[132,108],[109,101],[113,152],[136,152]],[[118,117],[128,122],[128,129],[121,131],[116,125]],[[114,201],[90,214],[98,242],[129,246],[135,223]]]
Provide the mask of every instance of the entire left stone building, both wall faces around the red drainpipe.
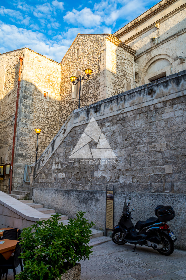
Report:
[[[1,120],[15,115],[20,55],[24,55],[16,126],[13,187],[22,185],[25,164],[35,162],[37,135],[35,128],[42,129],[38,138],[38,158],[59,130],[59,99],[61,65],[28,49],[14,51],[0,56],[7,67],[2,103]],[[3,69],[4,66],[1,67]],[[3,73],[3,70],[1,70]],[[1,80],[3,80],[3,75]],[[2,83],[2,82],[1,82]],[[12,90],[12,100],[6,104],[6,95]],[[47,98],[44,98],[44,91]],[[2,94],[1,94],[2,95]],[[13,125],[0,123],[6,127],[1,133],[1,154],[3,162],[11,162]],[[8,178],[1,181],[1,190],[8,192]],[[4,188],[3,188],[4,186]]]

